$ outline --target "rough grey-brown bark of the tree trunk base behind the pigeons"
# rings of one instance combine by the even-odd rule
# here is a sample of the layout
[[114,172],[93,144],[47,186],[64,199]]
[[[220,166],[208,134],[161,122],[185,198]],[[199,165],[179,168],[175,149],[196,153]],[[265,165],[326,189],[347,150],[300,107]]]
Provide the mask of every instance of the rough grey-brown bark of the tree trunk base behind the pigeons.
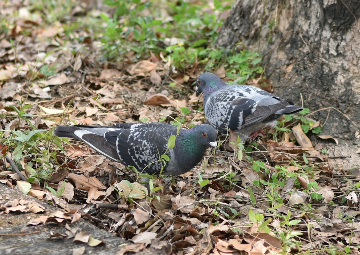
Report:
[[[258,50],[275,94],[320,119],[323,134],[355,142],[360,126],[360,1],[238,0],[217,45]],[[271,26],[273,24],[273,26]],[[302,102],[303,101],[303,102]],[[354,122],[354,123],[353,123]]]

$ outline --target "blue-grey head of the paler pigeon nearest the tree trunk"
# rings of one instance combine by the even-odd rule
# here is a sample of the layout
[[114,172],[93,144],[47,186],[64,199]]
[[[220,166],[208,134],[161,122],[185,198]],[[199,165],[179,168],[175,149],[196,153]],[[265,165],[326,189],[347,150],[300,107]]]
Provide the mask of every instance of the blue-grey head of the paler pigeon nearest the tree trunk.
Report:
[[213,73],[203,73],[196,78],[196,96],[199,96],[201,92],[204,93],[204,97],[210,95],[213,91],[220,87],[226,86],[219,77]]

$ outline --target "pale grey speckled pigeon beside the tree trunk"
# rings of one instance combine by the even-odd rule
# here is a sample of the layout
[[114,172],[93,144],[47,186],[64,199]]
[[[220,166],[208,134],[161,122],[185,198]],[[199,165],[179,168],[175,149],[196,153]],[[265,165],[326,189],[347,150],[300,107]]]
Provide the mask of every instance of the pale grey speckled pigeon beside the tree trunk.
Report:
[[220,133],[227,133],[227,129],[237,131],[242,142],[256,131],[275,127],[281,115],[302,110],[291,100],[280,99],[257,87],[227,85],[212,73],[201,74],[196,83],[196,95],[203,92],[209,123]]

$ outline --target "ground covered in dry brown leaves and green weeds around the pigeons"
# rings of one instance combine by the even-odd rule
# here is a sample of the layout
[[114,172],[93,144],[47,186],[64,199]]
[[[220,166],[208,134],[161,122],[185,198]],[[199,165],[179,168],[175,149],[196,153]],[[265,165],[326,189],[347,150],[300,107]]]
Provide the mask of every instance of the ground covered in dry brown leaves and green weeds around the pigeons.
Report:
[[193,89],[203,71],[271,92],[260,55],[213,45],[231,4],[1,2],[0,182],[71,210],[57,219],[85,217],[133,241],[127,254],[357,252],[358,169],[313,146],[308,136],[337,141],[309,109],[246,145],[220,137],[193,171],[150,177],[150,193],[136,169],[52,135],[57,124],[203,123]]

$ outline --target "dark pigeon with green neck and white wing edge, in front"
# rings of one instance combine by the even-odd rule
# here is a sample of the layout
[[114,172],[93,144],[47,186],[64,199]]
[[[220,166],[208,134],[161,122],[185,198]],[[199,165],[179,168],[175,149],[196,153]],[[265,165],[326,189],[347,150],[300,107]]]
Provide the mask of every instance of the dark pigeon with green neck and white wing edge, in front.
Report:
[[[176,136],[176,131],[176,126],[163,122],[55,127],[56,136],[84,141],[107,158],[149,174],[160,172],[163,166],[160,156],[166,152],[168,139],[171,135]],[[199,163],[208,146],[217,146],[216,131],[210,125],[180,129],[175,147],[166,152],[170,161],[162,173],[177,175],[188,172]]]

